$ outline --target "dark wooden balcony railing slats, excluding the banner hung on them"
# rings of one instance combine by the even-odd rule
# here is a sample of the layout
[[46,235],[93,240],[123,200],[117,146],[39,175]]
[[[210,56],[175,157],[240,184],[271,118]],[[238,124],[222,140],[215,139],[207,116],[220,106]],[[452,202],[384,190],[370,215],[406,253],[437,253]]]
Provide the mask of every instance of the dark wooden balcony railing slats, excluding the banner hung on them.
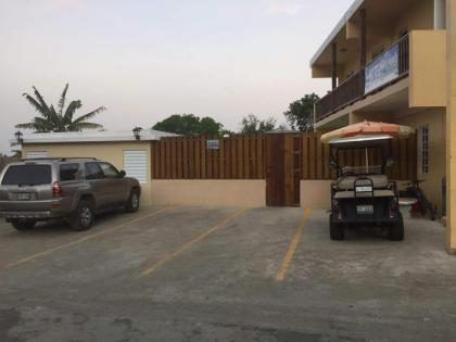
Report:
[[[393,53],[395,49],[398,51],[398,72],[396,77],[390,79],[373,90],[366,89],[366,71],[387,54]],[[339,87],[321,98],[315,105],[315,122],[317,123],[322,121],[343,107],[363,99],[369,93],[377,92],[385,87],[389,87],[391,84],[407,75],[408,69],[409,39],[408,36],[405,36],[390,49],[371,61],[365,68],[362,68],[359,72],[349,77],[345,81],[339,85]]]

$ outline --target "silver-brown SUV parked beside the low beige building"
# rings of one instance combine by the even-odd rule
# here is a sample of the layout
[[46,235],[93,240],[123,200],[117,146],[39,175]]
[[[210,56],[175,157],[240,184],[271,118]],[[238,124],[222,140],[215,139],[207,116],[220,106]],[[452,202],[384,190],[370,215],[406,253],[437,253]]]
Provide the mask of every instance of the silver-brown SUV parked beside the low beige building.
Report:
[[96,159],[24,160],[0,175],[0,216],[17,230],[55,218],[86,230],[100,212],[137,212],[140,195],[138,180]]

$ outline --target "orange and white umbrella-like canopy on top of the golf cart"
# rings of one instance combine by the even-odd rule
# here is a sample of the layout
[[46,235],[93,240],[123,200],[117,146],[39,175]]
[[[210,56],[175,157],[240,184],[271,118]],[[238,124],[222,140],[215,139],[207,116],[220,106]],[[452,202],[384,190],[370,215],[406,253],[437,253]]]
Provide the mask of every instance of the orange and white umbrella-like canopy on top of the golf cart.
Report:
[[342,142],[362,142],[366,140],[375,141],[388,138],[408,138],[415,134],[415,129],[408,126],[395,124],[363,122],[349,125],[346,127],[330,131],[321,136],[321,142],[342,143]]

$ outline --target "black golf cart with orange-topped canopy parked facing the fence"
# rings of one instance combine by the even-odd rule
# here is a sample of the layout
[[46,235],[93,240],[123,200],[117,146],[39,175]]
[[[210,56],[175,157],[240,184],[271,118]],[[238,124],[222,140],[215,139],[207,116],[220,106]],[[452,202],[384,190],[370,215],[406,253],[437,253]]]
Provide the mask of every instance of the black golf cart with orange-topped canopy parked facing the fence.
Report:
[[[380,226],[388,229],[390,240],[404,240],[397,185],[385,175],[385,168],[392,165],[392,139],[398,135],[385,134],[381,129],[373,131],[371,124],[377,123],[363,123],[369,129],[357,127],[353,130],[352,126],[352,130],[333,131],[321,137],[324,143],[330,144],[330,163],[337,170],[337,180],[331,185],[331,240],[344,240],[347,226]],[[346,155],[357,155],[362,165],[347,165]]]

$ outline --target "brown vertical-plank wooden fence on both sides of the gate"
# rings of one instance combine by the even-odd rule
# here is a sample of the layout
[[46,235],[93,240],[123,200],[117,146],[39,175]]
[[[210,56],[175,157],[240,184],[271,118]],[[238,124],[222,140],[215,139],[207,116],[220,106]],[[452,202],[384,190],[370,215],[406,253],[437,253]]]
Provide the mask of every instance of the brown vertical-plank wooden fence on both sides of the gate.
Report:
[[[267,165],[268,135],[237,135],[224,137],[164,138],[152,144],[153,179],[265,179]],[[324,145],[317,134],[286,134],[283,157],[295,160],[291,163],[299,169],[293,173],[304,180],[325,180],[335,177],[330,168],[329,147]],[[288,149],[295,144],[299,148]],[[218,149],[208,149],[207,140],[218,141]],[[290,143],[287,143],[287,140]],[[211,141],[210,141],[211,144]],[[392,145],[393,167],[388,169],[391,179],[416,179],[416,138],[394,141]],[[363,151],[341,153],[342,164],[360,166],[365,163]],[[371,152],[372,164],[381,165],[381,154]],[[279,163],[279,161],[277,161]],[[274,161],[269,161],[274,164]],[[286,163],[288,165],[290,163]],[[290,165],[291,165],[290,164]],[[287,166],[286,166],[287,167]]]

